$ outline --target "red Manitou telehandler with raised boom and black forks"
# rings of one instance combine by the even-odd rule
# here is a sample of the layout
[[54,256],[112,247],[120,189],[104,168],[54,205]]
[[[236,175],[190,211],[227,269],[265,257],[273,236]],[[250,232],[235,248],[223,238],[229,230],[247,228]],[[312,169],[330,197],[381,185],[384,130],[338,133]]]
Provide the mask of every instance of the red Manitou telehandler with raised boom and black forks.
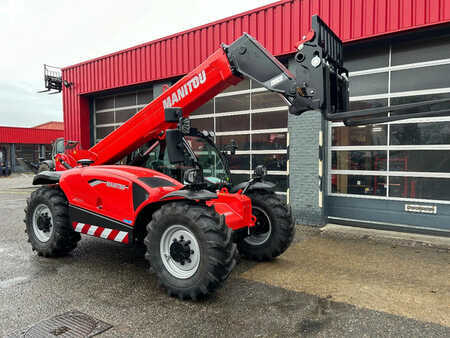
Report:
[[255,260],[283,253],[295,223],[290,207],[264,180],[265,168],[258,166],[250,181],[232,185],[213,135],[191,128],[188,119],[244,77],[279,93],[291,114],[317,110],[347,125],[448,113],[410,114],[420,104],[346,112],[342,42],[317,16],[297,50],[292,74],[244,34],[89,150],[57,154],[56,171],[35,176],[33,184],[43,186],[25,209],[33,250],[45,257],[66,254],[80,233],[128,244],[143,241],[159,281],[181,299],[219,287],[235,265],[237,249]]

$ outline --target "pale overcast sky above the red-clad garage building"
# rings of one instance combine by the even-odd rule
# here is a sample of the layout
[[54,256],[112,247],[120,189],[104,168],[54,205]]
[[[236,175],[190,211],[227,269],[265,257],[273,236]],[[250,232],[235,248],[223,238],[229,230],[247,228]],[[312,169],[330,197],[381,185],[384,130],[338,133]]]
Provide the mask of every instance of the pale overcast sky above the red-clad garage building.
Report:
[[62,121],[43,64],[65,67],[274,0],[0,0],[0,125]]

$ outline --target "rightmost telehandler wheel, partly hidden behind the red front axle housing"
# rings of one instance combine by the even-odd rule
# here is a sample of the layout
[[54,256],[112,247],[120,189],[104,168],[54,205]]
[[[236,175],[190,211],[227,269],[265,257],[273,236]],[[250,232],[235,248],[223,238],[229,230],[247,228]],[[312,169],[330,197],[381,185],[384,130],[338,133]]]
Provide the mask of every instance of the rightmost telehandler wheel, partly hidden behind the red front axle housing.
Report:
[[239,238],[239,253],[256,261],[272,260],[285,252],[294,239],[291,210],[271,191],[253,190],[247,196],[252,200],[256,225],[250,228],[249,236]]

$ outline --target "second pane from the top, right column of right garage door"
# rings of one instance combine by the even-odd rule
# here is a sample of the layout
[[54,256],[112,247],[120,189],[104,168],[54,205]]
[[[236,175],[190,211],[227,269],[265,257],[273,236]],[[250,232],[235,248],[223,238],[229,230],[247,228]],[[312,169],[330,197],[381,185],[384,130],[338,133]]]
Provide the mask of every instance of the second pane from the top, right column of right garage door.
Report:
[[391,92],[450,87],[450,65],[398,70],[391,73]]

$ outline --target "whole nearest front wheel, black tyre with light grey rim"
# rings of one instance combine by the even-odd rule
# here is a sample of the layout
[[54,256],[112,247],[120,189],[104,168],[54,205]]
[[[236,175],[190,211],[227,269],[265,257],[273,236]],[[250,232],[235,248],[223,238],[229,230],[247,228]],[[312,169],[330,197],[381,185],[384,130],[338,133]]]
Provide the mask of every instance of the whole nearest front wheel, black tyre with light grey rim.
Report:
[[204,298],[228,278],[236,244],[213,207],[186,201],[164,204],[152,215],[146,259],[170,296]]

